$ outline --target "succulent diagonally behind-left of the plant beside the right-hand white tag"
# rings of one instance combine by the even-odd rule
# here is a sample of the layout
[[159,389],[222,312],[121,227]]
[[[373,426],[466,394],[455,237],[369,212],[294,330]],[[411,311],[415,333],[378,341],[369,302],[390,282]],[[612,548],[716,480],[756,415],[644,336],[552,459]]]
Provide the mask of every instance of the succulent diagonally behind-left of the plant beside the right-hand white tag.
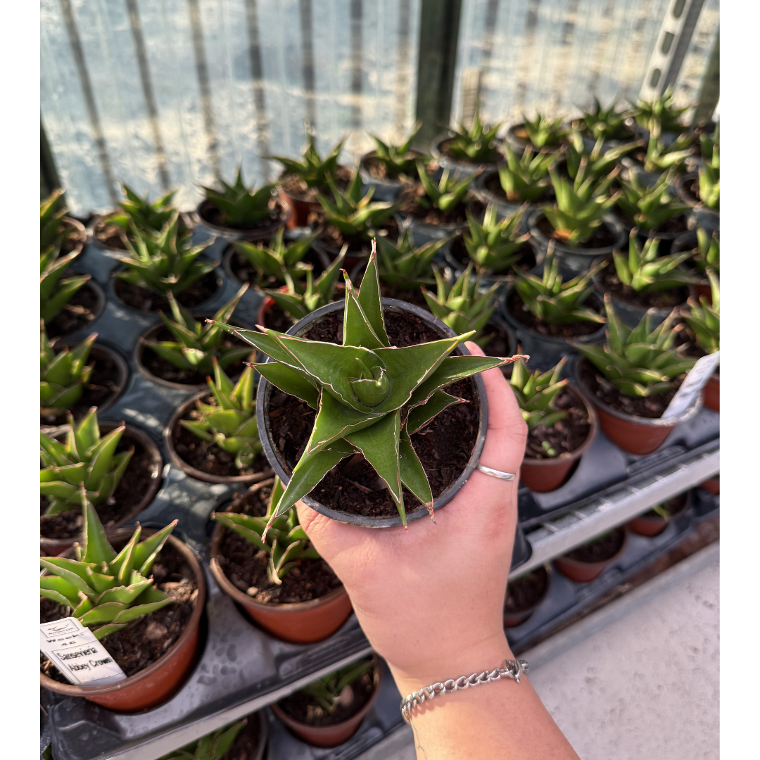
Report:
[[518,272],[515,290],[530,313],[543,322],[565,325],[568,322],[587,321],[603,324],[602,315],[583,305],[594,292],[591,284],[594,274],[604,266],[606,262],[601,262],[564,282],[559,274],[559,259],[554,255],[552,241],[543,262],[543,276],[539,278],[535,274]]

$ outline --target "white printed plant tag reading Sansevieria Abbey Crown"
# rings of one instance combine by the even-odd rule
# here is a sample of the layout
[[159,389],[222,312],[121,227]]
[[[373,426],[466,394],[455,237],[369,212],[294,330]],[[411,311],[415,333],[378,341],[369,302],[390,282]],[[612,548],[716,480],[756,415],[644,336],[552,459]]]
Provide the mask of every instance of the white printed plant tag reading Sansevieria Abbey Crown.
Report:
[[76,686],[102,686],[127,677],[76,618],[40,623],[40,651]]

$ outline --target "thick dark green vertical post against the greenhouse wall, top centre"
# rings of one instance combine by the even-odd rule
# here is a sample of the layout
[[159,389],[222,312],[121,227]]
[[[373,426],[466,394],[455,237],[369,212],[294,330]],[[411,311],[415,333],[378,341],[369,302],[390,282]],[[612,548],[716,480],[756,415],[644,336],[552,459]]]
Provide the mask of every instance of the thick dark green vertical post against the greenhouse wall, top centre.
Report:
[[462,0],[423,0],[417,68],[417,140],[427,145],[451,121]]

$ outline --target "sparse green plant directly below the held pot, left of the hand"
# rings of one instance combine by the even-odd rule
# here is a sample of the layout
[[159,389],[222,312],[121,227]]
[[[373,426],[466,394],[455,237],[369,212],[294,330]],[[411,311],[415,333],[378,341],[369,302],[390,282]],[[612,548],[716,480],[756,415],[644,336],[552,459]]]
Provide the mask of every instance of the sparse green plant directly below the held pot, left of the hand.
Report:
[[211,512],[212,520],[234,530],[259,551],[266,553],[268,578],[277,585],[298,565],[299,559],[320,559],[317,550],[309,543],[309,537],[301,527],[295,509],[273,518],[270,523],[274,506],[280,501],[284,490],[280,478],[275,478],[267,513],[263,518],[239,512]]

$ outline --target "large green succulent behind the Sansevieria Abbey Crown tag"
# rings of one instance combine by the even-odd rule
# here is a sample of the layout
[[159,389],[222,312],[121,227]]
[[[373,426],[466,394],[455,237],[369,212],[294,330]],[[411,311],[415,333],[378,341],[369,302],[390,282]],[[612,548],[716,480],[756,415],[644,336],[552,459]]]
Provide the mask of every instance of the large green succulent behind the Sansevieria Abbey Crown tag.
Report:
[[78,496],[84,518],[84,540],[81,546],[74,544],[77,559],[40,557],[40,565],[49,573],[40,576],[40,596],[69,607],[71,615],[93,629],[95,638],[100,640],[121,630],[131,620],[173,602],[154,586],[148,573],[177,521],[144,541],[140,541],[138,525],[117,554],[97,511],[84,496],[84,489],[78,491]]

